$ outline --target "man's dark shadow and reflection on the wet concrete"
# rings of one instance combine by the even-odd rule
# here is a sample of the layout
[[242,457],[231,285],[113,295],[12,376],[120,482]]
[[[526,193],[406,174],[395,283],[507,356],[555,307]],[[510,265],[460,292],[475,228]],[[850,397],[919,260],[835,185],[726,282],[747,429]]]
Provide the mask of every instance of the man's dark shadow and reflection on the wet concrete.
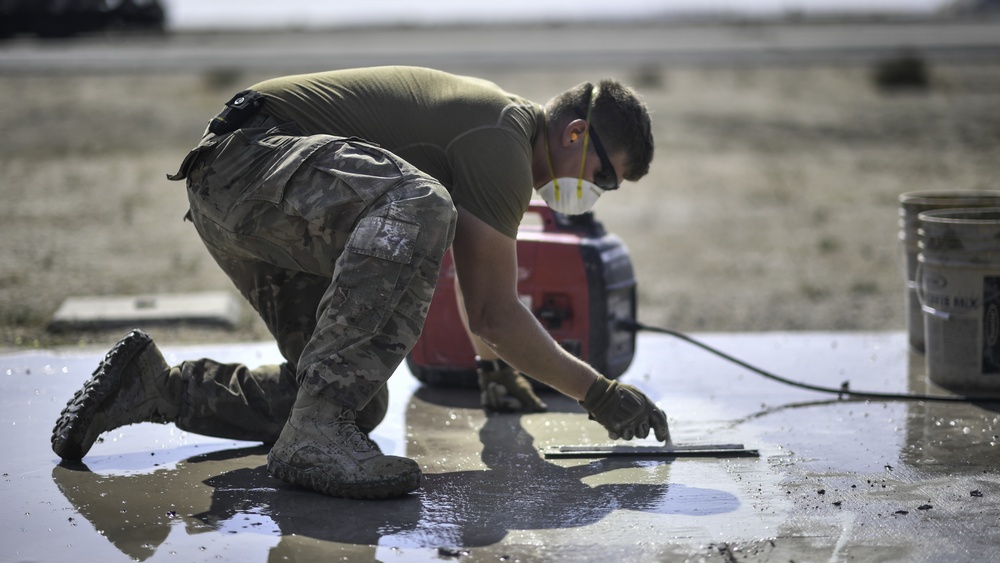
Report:
[[[470,397],[475,393],[469,390],[420,388],[408,402],[407,425],[415,436],[440,437],[449,428],[442,414],[478,411]],[[579,412],[575,403],[554,399],[557,410]],[[142,467],[136,457],[119,462],[134,469],[112,474],[62,463],[52,479],[101,535],[139,561],[153,556],[172,528],[189,536],[272,536],[277,541],[269,559],[275,561],[315,548],[308,540],[374,557],[380,545],[450,553],[496,544],[511,530],[588,526],[615,511],[707,516],[740,504],[724,491],[670,484],[670,465],[662,461],[546,462],[521,418],[489,416],[478,433],[452,428],[451,446],[416,457],[444,456],[457,470],[428,473],[417,493],[387,501],[329,498],[272,479],[266,446],[195,455],[172,467],[155,467],[148,459]],[[463,442],[476,440],[479,459],[463,461],[469,446]],[[629,469],[634,471],[623,472]]]

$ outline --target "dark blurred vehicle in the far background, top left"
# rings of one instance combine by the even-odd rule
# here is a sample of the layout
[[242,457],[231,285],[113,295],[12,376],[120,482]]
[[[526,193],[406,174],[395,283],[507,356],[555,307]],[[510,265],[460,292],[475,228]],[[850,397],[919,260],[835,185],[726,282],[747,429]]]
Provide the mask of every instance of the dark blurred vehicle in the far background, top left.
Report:
[[0,37],[70,37],[106,29],[162,31],[159,0],[0,0]]

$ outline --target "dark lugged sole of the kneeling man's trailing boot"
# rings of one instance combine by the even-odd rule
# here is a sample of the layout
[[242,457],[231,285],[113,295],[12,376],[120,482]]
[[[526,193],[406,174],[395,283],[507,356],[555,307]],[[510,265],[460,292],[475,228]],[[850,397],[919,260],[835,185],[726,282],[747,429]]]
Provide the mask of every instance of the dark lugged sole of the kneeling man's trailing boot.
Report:
[[101,407],[122,383],[122,372],[153,339],[141,330],[125,335],[94,371],[90,380],[66,404],[52,429],[52,451],[62,459],[79,461],[104,432]]

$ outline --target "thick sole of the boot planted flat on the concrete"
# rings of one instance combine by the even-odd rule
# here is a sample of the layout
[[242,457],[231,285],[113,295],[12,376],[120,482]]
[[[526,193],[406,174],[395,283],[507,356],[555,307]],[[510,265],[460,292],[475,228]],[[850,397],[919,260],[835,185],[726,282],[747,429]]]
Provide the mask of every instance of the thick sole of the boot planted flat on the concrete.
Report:
[[[297,453],[296,457],[300,456],[301,453]],[[316,461],[322,462],[321,457],[323,456],[320,452],[316,452],[316,454]],[[267,456],[267,471],[286,483],[334,497],[353,499],[381,499],[402,496],[417,490],[420,487],[421,477],[420,470],[416,469],[412,473],[391,479],[365,483],[342,483],[331,477],[318,465],[310,463],[308,466],[302,467],[281,461],[274,455]]]

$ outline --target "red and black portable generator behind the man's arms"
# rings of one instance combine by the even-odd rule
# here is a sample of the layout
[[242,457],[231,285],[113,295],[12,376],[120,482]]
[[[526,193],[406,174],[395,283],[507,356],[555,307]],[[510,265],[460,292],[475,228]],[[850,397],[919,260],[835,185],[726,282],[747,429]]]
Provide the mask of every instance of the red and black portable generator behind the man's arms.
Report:
[[[605,232],[593,213],[564,215],[532,202],[517,234],[517,291],[549,334],[606,377],[632,363],[635,333],[618,321],[635,320],[636,281],[628,249]],[[455,265],[441,264],[424,332],[407,365],[429,385],[475,387],[475,351],[459,316]]]

